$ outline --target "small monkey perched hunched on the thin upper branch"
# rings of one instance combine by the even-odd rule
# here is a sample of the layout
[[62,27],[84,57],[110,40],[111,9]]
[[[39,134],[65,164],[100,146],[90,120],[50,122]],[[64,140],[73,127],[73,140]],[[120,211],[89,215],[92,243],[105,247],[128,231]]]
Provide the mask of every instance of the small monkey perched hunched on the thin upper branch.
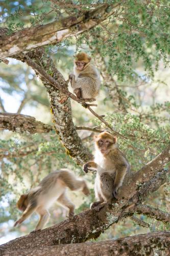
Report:
[[75,59],[74,74],[69,75],[71,87],[78,98],[91,99],[99,94],[100,74],[90,61],[91,57],[85,52],[78,53]]

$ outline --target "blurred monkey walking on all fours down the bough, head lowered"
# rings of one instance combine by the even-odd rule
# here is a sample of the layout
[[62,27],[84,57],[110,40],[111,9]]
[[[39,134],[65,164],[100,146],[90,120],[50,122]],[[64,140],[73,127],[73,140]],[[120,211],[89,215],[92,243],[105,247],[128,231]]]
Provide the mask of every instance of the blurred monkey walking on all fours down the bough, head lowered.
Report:
[[48,208],[57,200],[63,207],[68,208],[68,217],[74,216],[75,206],[66,197],[66,188],[70,190],[81,189],[84,195],[89,195],[89,189],[86,182],[82,179],[77,179],[74,174],[67,169],[57,170],[47,175],[37,187],[31,189],[28,194],[21,195],[17,208],[23,211],[19,220],[14,226],[25,221],[34,211],[39,216],[39,222],[35,231],[41,230],[48,221],[50,214]]

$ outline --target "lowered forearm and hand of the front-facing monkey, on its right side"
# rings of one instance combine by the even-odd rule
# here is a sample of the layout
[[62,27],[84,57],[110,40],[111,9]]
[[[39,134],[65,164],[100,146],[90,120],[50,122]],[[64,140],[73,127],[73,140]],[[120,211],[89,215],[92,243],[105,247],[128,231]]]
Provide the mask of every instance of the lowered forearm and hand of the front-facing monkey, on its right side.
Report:
[[114,180],[114,185],[113,185],[113,196],[115,198],[117,198],[118,188],[122,186],[124,177],[127,173],[128,168],[129,168],[129,165],[127,163],[116,165],[116,178]]

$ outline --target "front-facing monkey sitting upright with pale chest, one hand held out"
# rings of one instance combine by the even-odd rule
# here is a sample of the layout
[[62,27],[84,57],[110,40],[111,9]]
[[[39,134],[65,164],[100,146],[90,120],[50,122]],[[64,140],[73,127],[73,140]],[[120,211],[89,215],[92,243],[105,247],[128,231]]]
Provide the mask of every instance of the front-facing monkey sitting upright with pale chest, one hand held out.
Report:
[[122,151],[118,149],[117,138],[108,132],[102,132],[94,137],[95,157],[83,165],[84,172],[88,169],[96,169],[94,183],[95,197],[90,209],[99,211],[106,203],[111,203],[113,197],[117,198],[117,191],[122,186],[124,177],[130,171],[128,160]]

